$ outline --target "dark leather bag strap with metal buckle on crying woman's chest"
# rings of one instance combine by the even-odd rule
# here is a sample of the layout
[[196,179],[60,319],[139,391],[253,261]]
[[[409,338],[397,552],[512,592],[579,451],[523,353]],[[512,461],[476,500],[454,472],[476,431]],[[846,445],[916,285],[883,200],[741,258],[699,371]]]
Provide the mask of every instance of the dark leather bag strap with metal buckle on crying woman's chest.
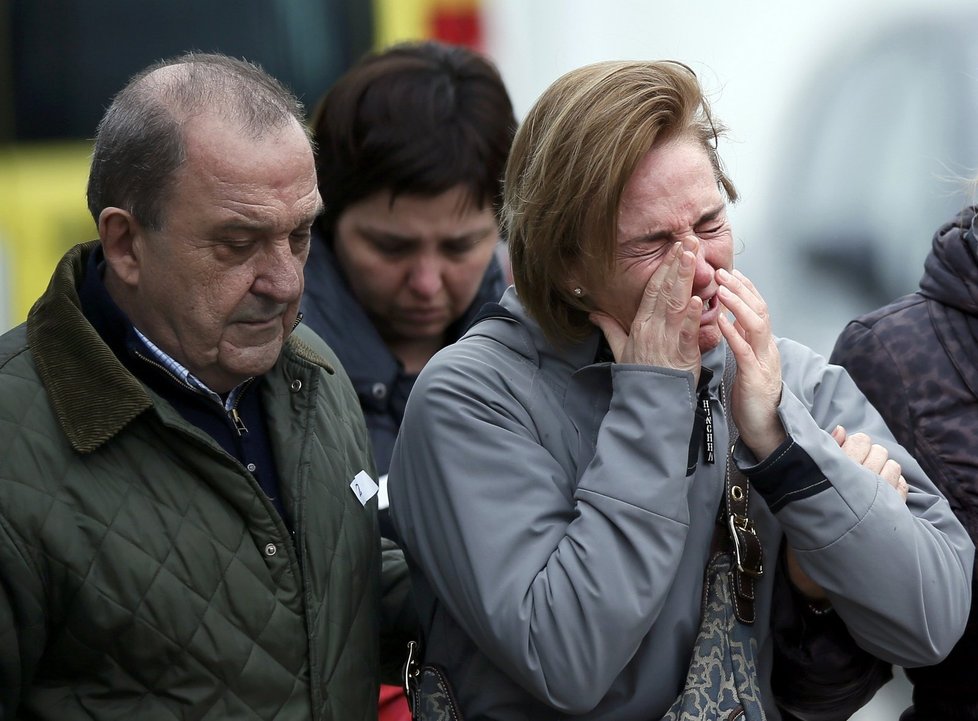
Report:
[[737,424],[730,413],[729,395],[737,372],[737,360],[730,346],[723,365],[723,381],[720,384],[720,400],[727,418],[730,444],[727,449],[726,482],[724,484],[724,521],[726,531],[733,545],[733,560],[730,574],[733,587],[734,614],[741,623],[752,624],[756,618],[754,591],[757,579],[764,574],[764,551],[760,538],[748,513],[750,483],[734,463],[734,447],[740,437]]

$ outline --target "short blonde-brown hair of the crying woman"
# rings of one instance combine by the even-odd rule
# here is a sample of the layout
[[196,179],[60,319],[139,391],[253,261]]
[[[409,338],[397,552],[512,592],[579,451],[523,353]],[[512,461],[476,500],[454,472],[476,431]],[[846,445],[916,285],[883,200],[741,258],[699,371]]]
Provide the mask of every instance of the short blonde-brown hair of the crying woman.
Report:
[[560,77],[530,110],[506,165],[502,223],[520,300],[553,342],[593,326],[569,279],[614,268],[618,207],[639,161],[678,137],[701,143],[731,201],[716,141],[724,128],[696,75],[673,61],[587,65]]

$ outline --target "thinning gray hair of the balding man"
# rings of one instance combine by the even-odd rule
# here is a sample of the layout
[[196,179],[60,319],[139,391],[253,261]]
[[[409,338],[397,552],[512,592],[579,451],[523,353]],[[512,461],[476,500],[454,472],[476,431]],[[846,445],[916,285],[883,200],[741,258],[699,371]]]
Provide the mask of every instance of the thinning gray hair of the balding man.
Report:
[[99,122],[88,176],[96,223],[104,208],[118,207],[162,228],[174,173],[186,160],[183,123],[203,113],[235,122],[255,139],[293,120],[306,128],[298,98],[246,60],[187,53],[154,63],[116,94]]

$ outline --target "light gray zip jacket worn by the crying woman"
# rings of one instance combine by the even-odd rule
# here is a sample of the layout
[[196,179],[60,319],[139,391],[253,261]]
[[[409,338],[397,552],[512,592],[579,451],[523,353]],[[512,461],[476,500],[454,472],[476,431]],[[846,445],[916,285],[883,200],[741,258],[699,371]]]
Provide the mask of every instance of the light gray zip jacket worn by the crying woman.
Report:
[[[426,660],[467,721],[659,718],[682,688],[722,500],[725,349],[706,353],[715,438],[692,438],[692,375],[560,350],[510,289],[422,371],[390,473]],[[901,666],[941,659],[970,604],[974,547],[947,501],[839,367],[779,340],[789,440],[757,463],[738,445],[763,542],[758,672],[769,719],[771,591],[786,538],[857,642]],[[850,461],[842,424],[885,445],[906,504]],[[699,446],[687,473],[691,443]]]

